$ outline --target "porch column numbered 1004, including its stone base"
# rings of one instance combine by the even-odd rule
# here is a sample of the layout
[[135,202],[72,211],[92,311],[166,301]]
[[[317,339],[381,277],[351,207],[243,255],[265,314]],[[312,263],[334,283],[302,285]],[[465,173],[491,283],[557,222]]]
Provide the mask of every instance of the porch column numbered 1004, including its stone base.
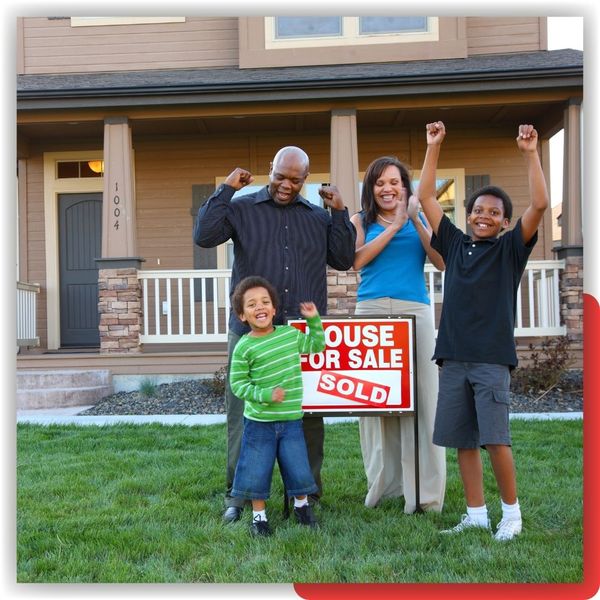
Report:
[[142,293],[136,256],[135,179],[126,117],[104,120],[102,257],[98,264],[100,352],[140,352]]

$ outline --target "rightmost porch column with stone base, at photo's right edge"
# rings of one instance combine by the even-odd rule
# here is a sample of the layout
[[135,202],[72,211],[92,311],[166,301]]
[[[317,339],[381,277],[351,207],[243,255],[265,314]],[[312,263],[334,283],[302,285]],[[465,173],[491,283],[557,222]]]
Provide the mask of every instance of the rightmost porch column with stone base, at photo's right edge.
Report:
[[571,99],[564,113],[564,164],[561,246],[565,260],[560,280],[560,312],[575,355],[583,350],[581,99]]

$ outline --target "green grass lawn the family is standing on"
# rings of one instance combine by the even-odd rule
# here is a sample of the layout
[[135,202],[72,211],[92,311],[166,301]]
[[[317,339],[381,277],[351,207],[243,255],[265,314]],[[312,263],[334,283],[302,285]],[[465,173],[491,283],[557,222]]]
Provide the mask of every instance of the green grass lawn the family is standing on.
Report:
[[[318,531],[281,517],[253,539],[249,513],[223,525],[223,425],[19,425],[19,582],[580,582],[582,422],[513,421],[524,531],[440,536],[464,511],[448,453],[441,514],[404,515],[402,501],[363,505],[358,425],[327,426]],[[493,523],[500,501],[486,462]]]

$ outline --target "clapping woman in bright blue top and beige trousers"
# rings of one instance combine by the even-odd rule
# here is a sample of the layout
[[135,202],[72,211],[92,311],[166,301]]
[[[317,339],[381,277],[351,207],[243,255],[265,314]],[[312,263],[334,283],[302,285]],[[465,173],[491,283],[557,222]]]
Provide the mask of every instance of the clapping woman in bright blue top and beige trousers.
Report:
[[[397,158],[383,156],[369,165],[361,206],[351,219],[357,233],[354,269],[361,275],[355,314],[416,318],[419,501],[422,509],[439,512],[446,454],[432,442],[438,373],[431,360],[435,333],[423,267],[425,256],[439,270],[444,261],[431,248],[431,229],[419,214],[408,169]],[[360,445],[368,483],[365,505],[404,496],[404,512],[415,512],[414,417],[361,417]]]

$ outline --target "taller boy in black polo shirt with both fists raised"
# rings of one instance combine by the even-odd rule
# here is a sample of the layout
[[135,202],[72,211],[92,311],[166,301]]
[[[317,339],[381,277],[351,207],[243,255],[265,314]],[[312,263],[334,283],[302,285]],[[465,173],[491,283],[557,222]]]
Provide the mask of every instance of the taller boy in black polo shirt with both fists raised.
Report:
[[494,538],[521,532],[515,468],[508,421],[510,371],[517,365],[514,341],[516,294],[537,228],[548,207],[548,192],[537,153],[537,131],[520,125],[517,146],[527,164],[530,204],[511,231],[509,196],[495,186],[467,202],[471,237],[444,215],[436,199],[436,168],[446,130],[427,125],[427,152],[419,200],[433,228],[431,245],[444,258],[444,302],[434,359],[440,372],[433,441],[457,448],[467,513],[442,533],[490,528],[483,493],[480,447],[485,448],[502,498],[502,520]]

